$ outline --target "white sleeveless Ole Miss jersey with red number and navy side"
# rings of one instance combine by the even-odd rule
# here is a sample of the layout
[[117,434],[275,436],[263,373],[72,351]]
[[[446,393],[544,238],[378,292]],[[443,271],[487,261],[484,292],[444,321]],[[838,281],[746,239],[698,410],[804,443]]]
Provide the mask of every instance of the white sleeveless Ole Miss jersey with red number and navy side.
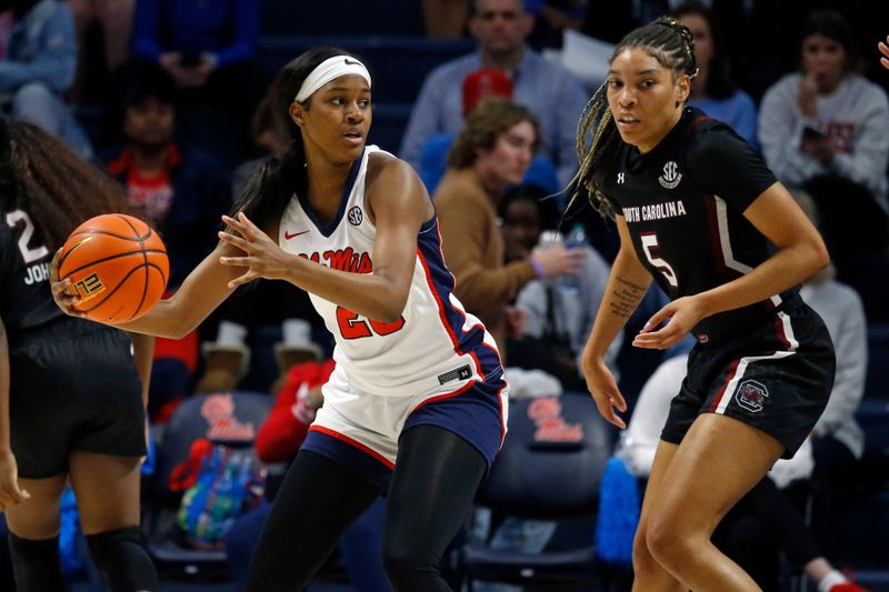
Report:
[[[281,218],[281,249],[341,271],[373,272],[377,229],[364,207],[364,179],[374,152],[382,151],[368,146],[352,165],[346,197],[328,224],[318,222],[304,197],[293,195]],[[417,237],[413,278],[399,321],[378,322],[309,294],[336,338],[331,382],[348,383],[353,394],[414,397],[452,392],[470,380],[502,374],[493,340],[453,297],[453,283],[432,217]]]

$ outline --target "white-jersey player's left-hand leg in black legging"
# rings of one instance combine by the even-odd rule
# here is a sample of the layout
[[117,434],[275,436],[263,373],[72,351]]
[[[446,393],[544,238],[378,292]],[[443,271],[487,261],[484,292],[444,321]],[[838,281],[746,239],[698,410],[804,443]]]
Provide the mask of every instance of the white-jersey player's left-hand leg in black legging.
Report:
[[344,464],[301,450],[274,496],[250,561],[247,590],[301,590],[380,493]]

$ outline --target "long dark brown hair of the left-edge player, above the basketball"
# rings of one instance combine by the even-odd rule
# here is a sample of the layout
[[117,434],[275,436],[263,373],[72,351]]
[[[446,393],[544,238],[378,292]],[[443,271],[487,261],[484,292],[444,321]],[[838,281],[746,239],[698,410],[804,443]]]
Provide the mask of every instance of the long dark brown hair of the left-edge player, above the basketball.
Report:
[[102,213],[133,213],[127,191],[101,169],[40,128],[0,117],[0,182],[56,250],[81,222]]

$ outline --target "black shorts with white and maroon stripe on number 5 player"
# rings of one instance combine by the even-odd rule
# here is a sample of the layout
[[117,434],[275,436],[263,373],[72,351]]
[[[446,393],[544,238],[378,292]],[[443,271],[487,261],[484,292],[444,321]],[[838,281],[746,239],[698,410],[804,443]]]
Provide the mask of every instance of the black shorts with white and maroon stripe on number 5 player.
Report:
[[789,459],[827,407],[835,368],[827,328],[802,303],[729,339],[698,343],[661,439],[678,444],[699,414],[720,413],[768,433]]

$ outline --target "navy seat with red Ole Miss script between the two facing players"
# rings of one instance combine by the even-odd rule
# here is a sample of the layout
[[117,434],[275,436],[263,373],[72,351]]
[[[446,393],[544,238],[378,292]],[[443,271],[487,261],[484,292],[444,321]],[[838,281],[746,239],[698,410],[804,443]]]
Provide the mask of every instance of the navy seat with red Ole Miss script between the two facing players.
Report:
[[[605,421],[588,394],[515,401],[509,437],[479,490],[477,504],[519,519],[583,519],[592,524],[610,450]],[[579,546],[541,553],[471,541],[461,550],[461,568],[469,590],[475,581],[556,590],[593,583],[595,558],[591,534]]]

